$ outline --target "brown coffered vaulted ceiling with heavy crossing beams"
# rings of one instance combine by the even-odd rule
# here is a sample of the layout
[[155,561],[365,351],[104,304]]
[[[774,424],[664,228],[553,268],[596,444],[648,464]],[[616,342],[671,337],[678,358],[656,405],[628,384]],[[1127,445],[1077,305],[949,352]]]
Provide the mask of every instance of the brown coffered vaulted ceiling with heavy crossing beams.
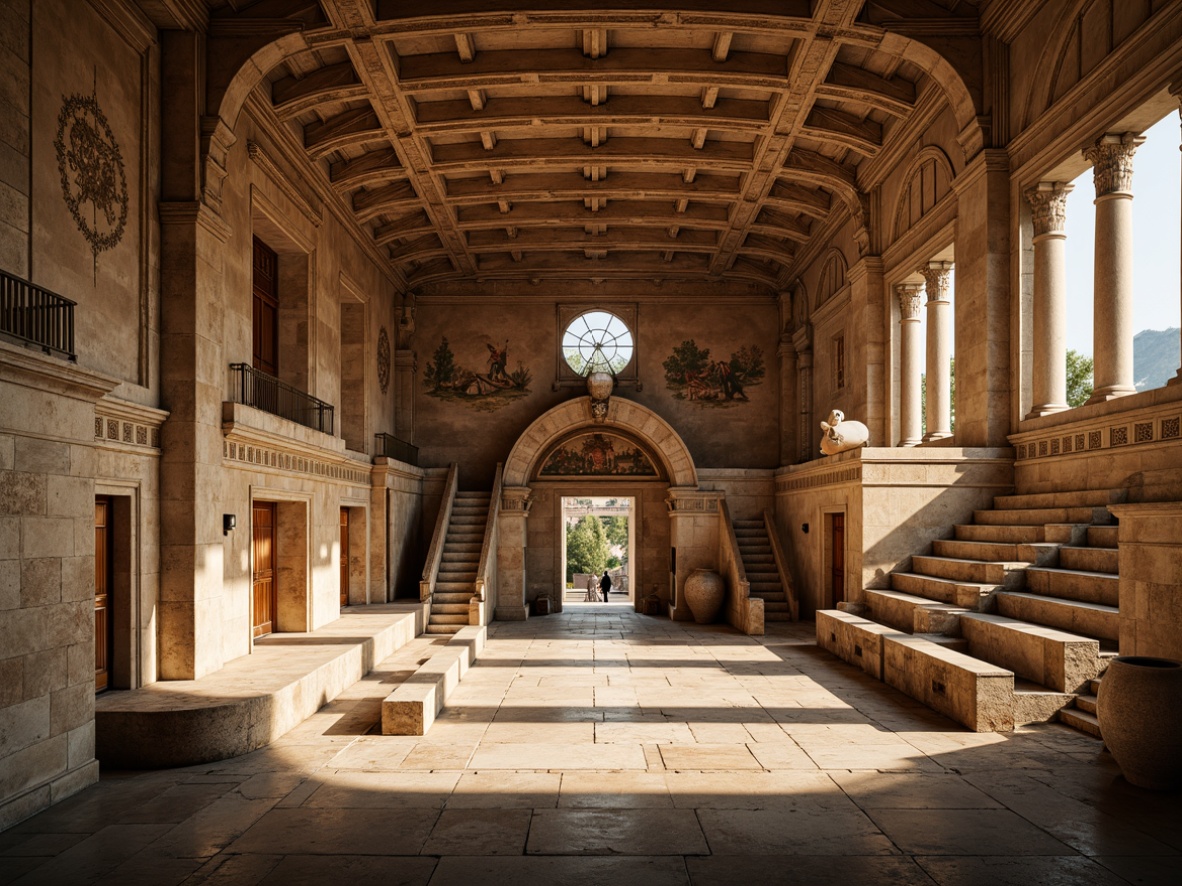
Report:
[[[236,6],[215,19],[253,8]],[[865,245],[863,168],[939,89],[882,50],[900,4],[571,6],[287,4],[311,48],[259,89],[411,289],[777,288],[830,222]],[[905,6],[976,24],[970,4]]]

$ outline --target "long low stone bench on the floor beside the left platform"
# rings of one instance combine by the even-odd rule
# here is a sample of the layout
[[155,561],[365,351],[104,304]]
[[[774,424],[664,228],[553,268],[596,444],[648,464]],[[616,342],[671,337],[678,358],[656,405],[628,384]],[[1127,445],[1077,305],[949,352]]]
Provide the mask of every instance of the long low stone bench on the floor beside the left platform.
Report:
[[382,702],[382,735],[427,735],[447,697],[485,649],[488,628],[461,627]]

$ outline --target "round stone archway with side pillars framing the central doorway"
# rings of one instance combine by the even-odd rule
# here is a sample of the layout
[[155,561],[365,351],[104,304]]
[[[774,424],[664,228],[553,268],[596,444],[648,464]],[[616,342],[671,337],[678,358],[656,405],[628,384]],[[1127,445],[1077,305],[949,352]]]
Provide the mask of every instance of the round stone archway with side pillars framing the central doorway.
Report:
[[[643,591],[657,593],[673,618],[686,618],[684,607],[677,607],[684,576],[699,566],[717,568],[722,494],[699,489],[694,460],[681,435],[652,410],[618,397],[609,402],[606,418],[596,422],[591,398],[577,397],[539,416],[518,438],[505,462],[498,520],[495,618],[525,619],[533,597],[565,585],[565,576],[559,584],[556,574],[560,556],[553,545],[561,522],[556,517],[560,512],[556,502],[560,495],[576,491],[576,486],[586,493],[587,486],[580,484],[579,477],[554,480],[539,476],[539,471],[563,441],[592,430],[635,442],[658,469],[658,476],[586,478],[587,484],[596,484],[599,490],[638,496],[643,529],[637,534],[637,547],[643,551],[636,554],[647,558],[648,563],[639,567],[645,574]],[[527,523],[531,512],[532,529]],[[637,606],[643,598],[644,593],[637,588]]]

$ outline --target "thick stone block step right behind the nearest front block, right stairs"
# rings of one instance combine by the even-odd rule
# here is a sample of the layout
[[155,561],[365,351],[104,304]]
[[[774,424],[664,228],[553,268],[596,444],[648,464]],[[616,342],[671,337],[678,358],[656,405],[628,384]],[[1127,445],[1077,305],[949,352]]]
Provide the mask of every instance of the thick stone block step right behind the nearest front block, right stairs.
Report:
[[1045,625],[966,612],[960,617],[960,632],[968,640],[969,654],[1056,692],[1078,692],[1100,670],[1097,640]]

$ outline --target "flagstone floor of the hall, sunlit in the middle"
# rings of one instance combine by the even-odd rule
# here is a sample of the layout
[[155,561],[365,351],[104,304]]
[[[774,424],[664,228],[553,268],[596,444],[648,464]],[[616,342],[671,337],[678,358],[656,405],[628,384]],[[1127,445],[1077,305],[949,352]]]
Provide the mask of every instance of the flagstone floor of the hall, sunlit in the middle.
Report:
[[104,771],[0,834],[0,884],[1178,882],[1182,797],[1058,724],[966,732],[812,630],[494,623],[427,736],[378,735],[422,637],[268,748]]

